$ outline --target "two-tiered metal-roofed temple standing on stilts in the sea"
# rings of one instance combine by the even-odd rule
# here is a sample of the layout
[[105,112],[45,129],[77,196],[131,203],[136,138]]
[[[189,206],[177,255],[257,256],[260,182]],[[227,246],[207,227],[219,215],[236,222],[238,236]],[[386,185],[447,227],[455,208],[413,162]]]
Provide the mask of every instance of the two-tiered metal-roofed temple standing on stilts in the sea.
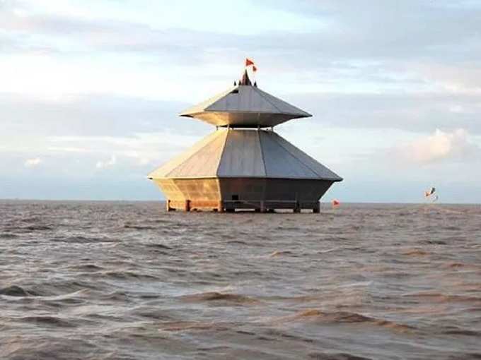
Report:
[[149,174],[170,210],[319,212],[319,200],[342,178],[274,132],[311,116],[252,83],[248,68],[232,88],[180,116],[216,131]]

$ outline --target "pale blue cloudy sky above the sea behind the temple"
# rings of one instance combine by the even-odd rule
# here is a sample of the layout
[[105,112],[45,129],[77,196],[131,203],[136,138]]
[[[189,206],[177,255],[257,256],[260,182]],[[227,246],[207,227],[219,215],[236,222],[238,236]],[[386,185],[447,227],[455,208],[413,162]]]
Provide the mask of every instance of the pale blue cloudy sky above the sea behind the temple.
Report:
[[0,198],[160,200],[239,78],[313,114],[274,130],[323,200],[481,203],[481,2],[0,0]]

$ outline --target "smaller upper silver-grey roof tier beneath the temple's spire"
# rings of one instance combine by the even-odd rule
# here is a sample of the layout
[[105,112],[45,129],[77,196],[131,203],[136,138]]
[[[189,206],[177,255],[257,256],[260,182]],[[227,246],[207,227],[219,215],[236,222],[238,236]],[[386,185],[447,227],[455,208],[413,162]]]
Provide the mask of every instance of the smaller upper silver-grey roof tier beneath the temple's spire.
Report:
[[262,128],[311,114],[255,86],[236,85],[186,109],[180,116],[193,117],[215,126]]

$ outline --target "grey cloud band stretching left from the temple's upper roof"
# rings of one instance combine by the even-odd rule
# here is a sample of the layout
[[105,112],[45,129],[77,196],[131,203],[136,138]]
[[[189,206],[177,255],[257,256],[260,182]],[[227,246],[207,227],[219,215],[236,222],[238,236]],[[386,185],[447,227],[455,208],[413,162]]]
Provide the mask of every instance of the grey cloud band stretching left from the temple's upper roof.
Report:
[[168,129],[198,133],[206,127],[201,121],[178,118],[188,104],[120,95],[64,95],[59,100],[42,100],[0,93],[0,121],[6,136],[133,136]]

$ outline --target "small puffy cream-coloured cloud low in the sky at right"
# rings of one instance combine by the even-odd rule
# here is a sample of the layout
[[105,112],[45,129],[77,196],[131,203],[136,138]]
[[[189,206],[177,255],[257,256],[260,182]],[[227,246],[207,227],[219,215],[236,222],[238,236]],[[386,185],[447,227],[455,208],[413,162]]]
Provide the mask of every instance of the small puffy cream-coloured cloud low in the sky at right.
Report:
[[433,134],[400,145],[395,149],[405,162],[431,163],[441,160],[463,161],[480,153],[479,146],[470,141],[467,131],[458,128],[452,132],[436,129]]

